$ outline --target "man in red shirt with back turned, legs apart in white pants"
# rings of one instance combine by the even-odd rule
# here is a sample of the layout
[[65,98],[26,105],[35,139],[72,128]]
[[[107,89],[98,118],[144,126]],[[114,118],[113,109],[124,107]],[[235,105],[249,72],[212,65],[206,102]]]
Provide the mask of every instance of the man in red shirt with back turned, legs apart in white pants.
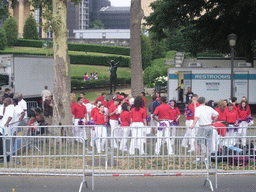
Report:
[[[170,128],[169,128],[169,120],[170,120],[170,111],[171,107],[166,103],[166,97],[161,97],[160,106],[158,106],[154,113],[153,118],[158,122],[157,126],[157,142],[155,146],[155,154],[159,155],[161,143],[163,140],[163,144],[167,143],[167,150],[169,155],[173,155],[172,145],[170,138],[162,139],[161,137],[170,137]],[[158,115],[158,118],[156,116]],[[159,138],[160,137],[160,138]]]

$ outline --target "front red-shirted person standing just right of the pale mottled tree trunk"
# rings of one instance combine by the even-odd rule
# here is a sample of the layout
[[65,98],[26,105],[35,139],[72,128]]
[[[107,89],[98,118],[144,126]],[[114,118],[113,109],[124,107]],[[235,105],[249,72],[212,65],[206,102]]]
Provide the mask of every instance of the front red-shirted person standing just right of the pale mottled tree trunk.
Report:
[[[87,109],[83,105],[83,98],[78,97],[77,104],[72,109],[74,118],[74,136],[82,137],[87,140],[86,128],[83,126],[87,123]],[[79,126],[80,125],[80,126]],[[78,141],[82,142],[80,139]]]

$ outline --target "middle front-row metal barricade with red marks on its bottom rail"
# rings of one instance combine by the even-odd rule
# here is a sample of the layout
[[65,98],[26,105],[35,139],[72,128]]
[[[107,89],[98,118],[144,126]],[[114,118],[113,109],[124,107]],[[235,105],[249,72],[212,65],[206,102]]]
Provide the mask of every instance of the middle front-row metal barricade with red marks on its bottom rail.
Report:
[[[181,146],[185,127],[175,127],[175,136],[147,136],[140,135],[152,127],[122,127],[113,131],[114,137],[96,138],[93,144],[93,175],[94,179],[99,176],[156,176],[156,175],[206,175],[209,179],[209,171],[214,169],[214,163],[210,162],[208,140],[205,136],[195,137],[196,151],[189,153],[188,148]],[[155,127],[158,129],[159,127]],[[165,127],[164,129],[172,129]],[[125,129],[137,130],[137,135],[116,136],[116,132]],[[159,131],[159,130],[157,130]],[[202,130],[203,131],[203,130]],[[161,143],[161,142],[162,143]],[[126,147],[122,146],[125,142]],[[166,145],[164,145],[166,143]],[[204,145],[204,148],[202,143]],[[160,146],[159,146],[160,145]],[[101,150],[98,150],[101,146]],[[214,172],[215,170],[213,170]]]

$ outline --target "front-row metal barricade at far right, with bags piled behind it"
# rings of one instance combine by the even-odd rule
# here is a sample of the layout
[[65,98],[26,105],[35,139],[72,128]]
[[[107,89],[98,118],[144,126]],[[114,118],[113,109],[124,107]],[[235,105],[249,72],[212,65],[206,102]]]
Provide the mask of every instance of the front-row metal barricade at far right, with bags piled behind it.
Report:
[[[256,174],[256,127],[215,128],[220,135],[215,138],[215,187],[218,175]],[[240,129],[240,130],[239,130]],[[241,135],[247,129],[247,135]],[[221,133],[227,133],[225,136]]]

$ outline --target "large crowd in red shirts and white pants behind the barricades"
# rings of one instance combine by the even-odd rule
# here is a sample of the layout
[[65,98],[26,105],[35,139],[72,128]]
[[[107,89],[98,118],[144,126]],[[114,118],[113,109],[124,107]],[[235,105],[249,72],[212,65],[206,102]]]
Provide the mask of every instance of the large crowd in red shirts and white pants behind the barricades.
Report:
[[[191,93],[191,89],[189,92]],[[216,107],[214,106],[214,101],[211,100],[206,104],[205,98],[198,98],[197,94],[190,94],[189,97],[184,113],[186,116],[186,132],[182,140],[182,147],[187,148],[190,146],[189,152],[195,151],[199,153],[195,138],[197,136],[200,137],[200,134],[202,134],[202,131],[198,131],[200,128],[204,129],[204,134],[210,139],[216,139],[218,135],[220,137],[242,136],[241,144],[243,146],[246,145],[246,138],[243,136],[246,136],[247,127],[252,123],[252,118],[251,110],[245,97],[239,104],[237,104],[235,97],[230,102],[220,100]],[[148,134],[155,134],[158,137],[155,144],[155,154],[159,154],[162,144],[166,143],[168,154],[173,155],[176,126],[179,125],[181,117],[175,100],[167,101],[166,97],[160,97],[159,93],[156,92],[152,96],[148,109],[144,92],[141,92],[135,99],[130,99],[129,95],[125,93],[116,92],[110,101],[106,100],[106,93],[102,93],[95,100],[93,107],[85,99],[85,93],[80,94],[77,104],[75,104],[75,95],[73,95],[72,101],[71,109],[74,124],[95,125],[91,130],[91,136],[105,137],[107,129],[97,125],[108,126],[111,130],[111,137],[120,138],[114,140],[114,148],[119,147],[120,150],[129,151],[130,154],[134,154],[137,148],[140,154],[144,154],[145,139],[138,138],[143,138]],[[150,117],[152,117],[152,120],[149,120]],[[153,128],[143,128],[145,126]],[[125,128],[120,129],[119,127]],[[218,127],[218,129],[215,130],[213,127]],[[79,130],[82,131],[82,129],[78,129],[74,134],[78,137],[87,138],[86,133],[78,133]],[[129,147],[126,139],[128,136],[132,137]],[[164,137],[164,139],[161,137]],[[96,143],[98,152],[103,150],[104,143],[105,141]],[[213,145],[214,143],[212,142]],[[225,145],[234,146],[237,144],[238,139],[233,139],[227,140]]]

